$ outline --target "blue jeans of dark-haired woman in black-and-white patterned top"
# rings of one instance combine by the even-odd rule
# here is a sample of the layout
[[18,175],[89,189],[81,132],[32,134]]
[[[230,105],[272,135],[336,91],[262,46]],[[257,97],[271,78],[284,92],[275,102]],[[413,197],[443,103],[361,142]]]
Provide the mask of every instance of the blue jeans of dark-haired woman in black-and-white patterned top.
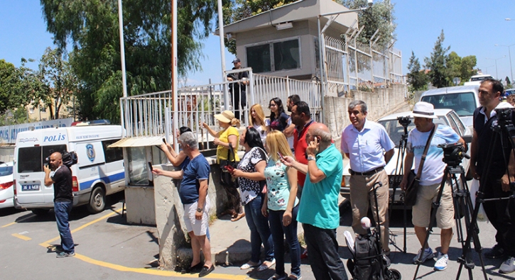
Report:
[[273,259],[273,241],[270,233],[269,220],[261,213],[263,198],[257,196],[245,204],[246,224],[250,228],[251,262],[259,262],[261,243],[265,247],[265,260]]

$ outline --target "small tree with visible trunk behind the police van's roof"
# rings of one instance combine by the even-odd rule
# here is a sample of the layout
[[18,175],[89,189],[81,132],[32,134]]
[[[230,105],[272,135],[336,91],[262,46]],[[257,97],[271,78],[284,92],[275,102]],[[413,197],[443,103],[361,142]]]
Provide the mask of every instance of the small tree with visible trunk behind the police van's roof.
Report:
[[43,82],[42,90],[36,95],[48,107],[50,119],[58,119],[60,108],[77,94],[78,79],[65,54],[59,48],[47,47],[39,64],[38,76]]

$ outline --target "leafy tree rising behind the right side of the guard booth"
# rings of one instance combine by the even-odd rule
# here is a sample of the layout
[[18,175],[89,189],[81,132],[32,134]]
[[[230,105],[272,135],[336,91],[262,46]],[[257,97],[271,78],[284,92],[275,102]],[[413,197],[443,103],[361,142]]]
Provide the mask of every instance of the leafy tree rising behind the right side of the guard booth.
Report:
[[[367,0],[337,0],[349,9],[359,9],[366,7]],[[374,1],[372,8],[358,13],[359,26],[364,26],[362,33],[359,33],[357,40],[363,44],[369,44],[370,38],[379,29],[376,37],[379,36],[376,45],[388,47],[396,39],[394,4],[391,1]],[[374,38],[374,40],[375,40]]]

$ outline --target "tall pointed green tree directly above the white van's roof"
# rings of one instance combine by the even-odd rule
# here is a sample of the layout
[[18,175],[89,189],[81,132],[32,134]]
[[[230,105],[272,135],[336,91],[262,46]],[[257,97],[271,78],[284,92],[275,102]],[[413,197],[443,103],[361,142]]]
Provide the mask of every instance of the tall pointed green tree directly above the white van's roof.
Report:
[[429,80],[433,86],[436,87],[445,87],[448,86],[448,68],[446,62],[448,60],[447,52],[450,50],[449,47],[443,47],[443,40],[445,40],[445,35],[443,35],[443,29],[436,40],[435,47],[433,47],[433,52],[431,52],[430,57],[425,57],[425,68],[429,69]]

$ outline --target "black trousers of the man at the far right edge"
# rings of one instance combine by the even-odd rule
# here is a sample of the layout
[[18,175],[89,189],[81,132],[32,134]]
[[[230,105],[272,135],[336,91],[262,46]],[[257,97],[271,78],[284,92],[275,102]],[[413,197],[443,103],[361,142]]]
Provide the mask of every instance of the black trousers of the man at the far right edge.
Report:
[[[484,198],[501,198],[511,195],[503,191],[498,178],[485,181]],[[483,204],[488,220],[497,230],[495,240],[504,249],[505,254],[515,257],[515,199],[486,201]]]

